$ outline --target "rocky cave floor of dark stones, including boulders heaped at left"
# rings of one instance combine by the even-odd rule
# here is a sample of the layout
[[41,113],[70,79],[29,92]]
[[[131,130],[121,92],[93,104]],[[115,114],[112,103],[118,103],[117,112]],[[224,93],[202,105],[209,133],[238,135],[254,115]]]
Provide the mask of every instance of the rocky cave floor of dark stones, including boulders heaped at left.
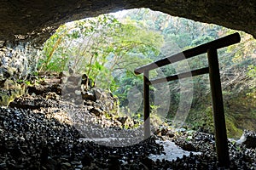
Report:
[[[142,140],[142,131],[131,133],[136,121],[118,116],[114,107],[109,109],[111,102],[103,102],[113,96],[98,92],[105,95],[100,99],[99,89],[90,89],[77,105],[60,95],[59,81],[44,80],[0,108],[0,169],[218,169],[212,134],[161,127]],[[111,140],[90,140],[102,136]],[[256,169],[255,138],[246,132],[238,142],[230,140],[230,169]],[[172,161],[149,159],[165,154],[156,142],[164,140],[201,154],[191,152]]]

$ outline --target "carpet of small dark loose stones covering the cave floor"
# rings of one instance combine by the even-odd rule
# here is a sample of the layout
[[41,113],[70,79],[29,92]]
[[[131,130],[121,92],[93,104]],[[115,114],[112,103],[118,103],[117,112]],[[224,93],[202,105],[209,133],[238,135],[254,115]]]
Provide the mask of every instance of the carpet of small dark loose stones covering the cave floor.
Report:
[[[96,116],[86,110],[83,117],[85,119],[86,115],[86,120],[90,119],[91,122],[86,122],[86,128],[83,128],[89,129],[90,133],[80,133],[78,126],[61,122],[55,115],[63,117],[65,114],[61,114],[61,111],[64,109],[80,112],[83,108],[61,99],[47,100],[43,96],[44,93],[26,95],[15,99],[9,108],[0,108],[0,169],[218,169],[212,134],[187,132],[182,128],[178,129],[182,133],[162,131],[161,136],[153,135],[137,144],[109,147],[79,139],[89,138],[84,135],[92,132],[95,133],[91,134],[94,137],[109,133],[111,131],[97,131],[96,122],[102,122],[106,127],[116,127],[119,125],[117,120]],[[90,107],[93,106],[94,102],[90,101]],[[114,140],[115,135],[111,133],[109,137]],[[127,133],[122,135],[125,137]],[[156,141],[164,138],[172,140],[184,150],[196,150],[202,154],[189,154],[173,161],[152,161],[148,158],[150,154],[163,154],[163,147]],[[132,139],[119,142],[132,142]],[[230,169],[255,169],[255,149],[236,142],[229,142],[229,148]]]

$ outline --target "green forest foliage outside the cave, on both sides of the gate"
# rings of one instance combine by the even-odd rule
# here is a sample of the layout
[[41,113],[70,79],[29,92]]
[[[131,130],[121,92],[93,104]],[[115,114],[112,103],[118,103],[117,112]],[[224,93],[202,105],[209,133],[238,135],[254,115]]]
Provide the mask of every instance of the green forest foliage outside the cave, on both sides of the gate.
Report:
[[[61,26],[44,43],[38,71],[68,71],[72,67],[75,73],[86,73],[96,86],[110,89],[118,95],[120,105],[126,108],[131,88],[143,91],[143,76],[135,76],[135,68],[234,32],[221,26],[153,12],[148,8],[128,10],[118,19],[112,14],[102,14]],[[229,107],[225,110],[227,127],[231,136],[241,133],[239,120],[245,119],[237,114],[239,105],[245,107],[241,111],[248,111],[247,119],[255,116],[256,41],[244,32],[239,33],[240,43],[218,50],[223,94],[227,99],[224,105]],[[206,54],[186,61],[187,65],[177,63],[151,71],[150,77],[171,76],[208,65]],[[187,122],[212,132],[208,77],[193,77],[193,82],[194,99]],[[180,85],[174,81],[168,86],[166,88],[171,92],[169,117],[172,118],[180,102]],[[233,101],[236,99],[239,102]],[[160,111],[160,108],[154,111]],[[142,108],[132,114],[141,118],[141,112]]]

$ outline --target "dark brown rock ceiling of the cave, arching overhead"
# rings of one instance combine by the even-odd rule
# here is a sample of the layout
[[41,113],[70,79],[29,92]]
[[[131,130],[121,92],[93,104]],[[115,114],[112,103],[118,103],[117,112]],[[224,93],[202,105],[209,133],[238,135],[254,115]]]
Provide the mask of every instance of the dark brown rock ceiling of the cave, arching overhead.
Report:
[[151,8],[247,31],[256,37],[255,0],[3,0],[0,2],[0,41],[37,37],[38,42],[44,42],[57,26],[67,21],[128,8]]

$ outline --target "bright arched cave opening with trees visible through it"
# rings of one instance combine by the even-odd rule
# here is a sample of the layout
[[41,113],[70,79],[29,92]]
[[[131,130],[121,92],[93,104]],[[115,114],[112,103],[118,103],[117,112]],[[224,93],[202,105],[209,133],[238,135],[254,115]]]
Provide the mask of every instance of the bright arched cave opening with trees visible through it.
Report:
[[[134,125],[136,127],[143,122],[143,77],[135,77],[133,70],[140,65],[230,33],[231,30],[221,26],[172,17],[146,8],[103,14],[96,18],[78,20],[60,26],[44,43],[43,53],[38,60],[38,71],[56,71],[69,76],[80,74],[81,79],[78,82],[84,81],[84,93],[89,91],[86,94],[88,98],[92,98],[90,96],[92,88],[107,89],[111,95],[118,97],[119,112],[139,120]],[[242,40],[244,42],[242,50],[247,53],[248,50],[244,48],[248,46],[246,43],[254,42],[247,41],[251,37],[247,37],[245,33],[241,35],[246,37]],[[235,51],[240,49],[236,47]],[[224,49],[220,52],[220,56],[225,56],[220,57],[220,62],[224,63],[221,69],[228,68],[230,71],[239,65],[236,59],[247,62],[252,60],[253,55],[247,53],[247,57],[242,58],[241,55],[232,54],[229,49]],[[197,59],[190,59],[187,63],[163,67],[160,72],[155,71],[150,76],[157,78],[172,73],[177,74],[188,69],[193,70],[198,66],[207,66],[207,59],[203,55]],[[244,66],[247,68],[247,65]],[[242,77],[245,75],[243,74]],[[233,75],[232,78],[236,77]],[[192,122],[192,128],[202,127],[203,131],[212,133],[211,100],[207,93],[210,88],[207,85],[209,84],[207,78],[201,76],[190,79],[190,82],[182,81],[168,83],[167,90],[162,86],[150,89],[154,92],[150,96],[150,99],[154,100],[154,104],[150,104],[153,112],[151,115],[157,120],[154,122],[164,120],[172,124],[172,118],[176,114],[185,113],[183,115],[186,116],[183,116],[183,121],[180,122],[181,126]],[[192,81],[196,82],[195,85],[191,83]],[[225,80],[224,85],[228,82],[230,81]],[[230,86],[230,84],[226,85],[226,87]],[[185,94],[182,94],[182,91]],[[224,92],[224,99],[231,98],[230,91],[231,89],[228,89],[227,93]],[[164,95],[157,97],[158,94]],[[182,100],[186,102],[181,104]],[[203,105],[199,108],[198,103]],[[228,104],[224,103],[224,105]],[[196,114],[189,114],[188,111]],[[99,111],[94,112],[98,114]],[[201,117],[202,112],[206,112],[206,116]],[[227,128],[230,136],[240,136],[241,127],[237,127],[239,122],[234,122],[234,109],[230,108],[227,112],[229,113]],[[246,124],[244,123],[245,126]]]

